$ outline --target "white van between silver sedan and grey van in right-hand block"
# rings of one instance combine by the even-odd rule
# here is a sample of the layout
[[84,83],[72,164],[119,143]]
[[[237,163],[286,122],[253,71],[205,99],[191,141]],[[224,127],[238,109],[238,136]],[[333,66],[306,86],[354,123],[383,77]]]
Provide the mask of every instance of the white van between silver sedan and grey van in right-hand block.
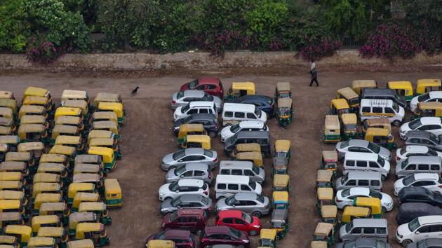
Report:
[[348,151],[344,158],[344,175],[351,171],[380,172],[385,179],[390,172],[390,163],[375,153]]

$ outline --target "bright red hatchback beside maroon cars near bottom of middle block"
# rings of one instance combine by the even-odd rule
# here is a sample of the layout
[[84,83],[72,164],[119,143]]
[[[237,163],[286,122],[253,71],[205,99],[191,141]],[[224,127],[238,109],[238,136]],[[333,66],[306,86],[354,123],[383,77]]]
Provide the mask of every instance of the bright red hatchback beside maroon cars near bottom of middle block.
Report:
[[229,226],[237,230],[243,230],[250,236],[259,234],[262,228],[260,219],[239,210],[225,210],[218,212],[215,217],[215,225]]

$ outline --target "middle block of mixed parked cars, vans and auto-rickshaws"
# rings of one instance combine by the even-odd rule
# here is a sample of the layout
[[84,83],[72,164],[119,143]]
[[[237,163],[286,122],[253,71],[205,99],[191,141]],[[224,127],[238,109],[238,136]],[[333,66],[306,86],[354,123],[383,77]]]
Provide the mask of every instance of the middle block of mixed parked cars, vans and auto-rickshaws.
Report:
[[[173,95],[174,132],[180,149],[161,160],[161,168],[167,171],[166,184],[159,188],[163,231],[147,237],[149,248],[196,247],[191,232],[199,235],[200,247],[250,247],[248,235],[260,235],[262,247],[276,247],[286,235],[290,142],[276,141],[273,152],[266,122],[275,114],[281,125],[291,122],[290,84],[278,83],[276,98],[255,95],[251,82],[232,83],[227,96],[222,89],[217,78],[199,78]],[[225,126],[222,130],[221,125]],[[218,161],[212,149],[211,139],[218,133],[231,160]],[[269,181],[263,157],[272,155],[271,201],[262,195],[261,185]],[[210,186],[215,190],[215,204]],[[212,213],[215,226],[207,226]],[[262,228],[260,216],[271,213],[272,228]]]

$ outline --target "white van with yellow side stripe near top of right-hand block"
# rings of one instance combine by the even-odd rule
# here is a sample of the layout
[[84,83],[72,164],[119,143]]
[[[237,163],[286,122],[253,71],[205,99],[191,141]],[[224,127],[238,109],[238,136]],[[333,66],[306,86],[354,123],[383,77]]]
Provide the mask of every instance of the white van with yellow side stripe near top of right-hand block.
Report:
[[388,118],[390,123],[399,126],[405,116],[403,107],[388,99],[362,99],[359,106],[361,122],[373,118]]

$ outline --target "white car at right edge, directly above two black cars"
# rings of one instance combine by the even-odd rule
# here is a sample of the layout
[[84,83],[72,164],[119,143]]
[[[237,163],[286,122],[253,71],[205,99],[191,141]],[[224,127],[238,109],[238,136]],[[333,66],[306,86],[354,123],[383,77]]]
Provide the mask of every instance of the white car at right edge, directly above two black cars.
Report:
[[442,193],[442,179],[437,173],[416,173],[394,182],[394,195],[398,195],[403,187],[420,186],[435,193]]

